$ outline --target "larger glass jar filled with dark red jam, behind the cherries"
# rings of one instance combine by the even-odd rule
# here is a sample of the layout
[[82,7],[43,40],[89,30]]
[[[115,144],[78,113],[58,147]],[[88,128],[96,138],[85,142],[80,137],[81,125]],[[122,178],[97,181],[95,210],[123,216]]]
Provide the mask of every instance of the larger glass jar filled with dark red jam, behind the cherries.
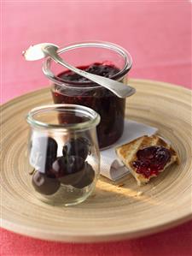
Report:
[[[125,49],[107,42],[68,45],[58,53],[77,68],[123,83],[132,65],[131,56]],[[124,130],[125,98],[118,98],[107,88],[65,69],[50,58],[45,60],[43,71],[51,80],[55,104],[80,104],[99,113],[101,122],[96,130],[100,149],[113,145],[120,138]]]

